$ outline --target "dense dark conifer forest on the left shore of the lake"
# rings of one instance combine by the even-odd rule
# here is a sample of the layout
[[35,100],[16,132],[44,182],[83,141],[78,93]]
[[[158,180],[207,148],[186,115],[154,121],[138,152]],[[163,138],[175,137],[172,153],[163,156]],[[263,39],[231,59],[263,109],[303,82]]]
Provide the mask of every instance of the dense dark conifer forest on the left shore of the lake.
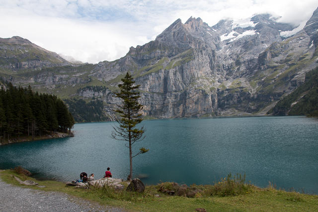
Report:
[[0,90],[0,138],[9,140],[20,135],[43,135],[44,132],[67,132],[74,119],[57,96],[34,93],[11,83]]

